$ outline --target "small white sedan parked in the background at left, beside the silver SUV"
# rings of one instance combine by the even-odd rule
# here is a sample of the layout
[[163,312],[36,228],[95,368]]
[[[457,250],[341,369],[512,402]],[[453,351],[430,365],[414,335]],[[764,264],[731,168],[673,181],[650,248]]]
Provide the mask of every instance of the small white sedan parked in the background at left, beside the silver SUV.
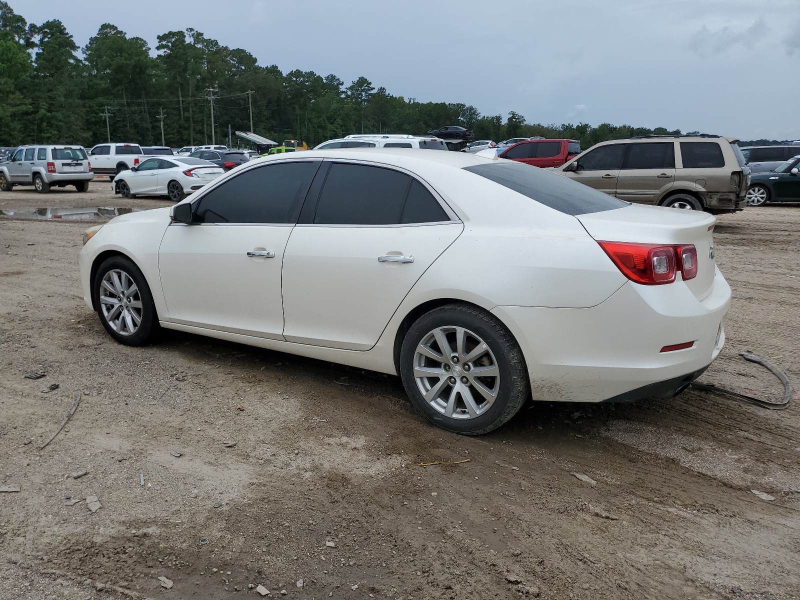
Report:
[[169,196],[180,202],[189,194],[213,182],[225,170],[213,162],[187,156],[148,158],[141,165],[121,171],[112,186],[114,194],[135,198],[136,194]]

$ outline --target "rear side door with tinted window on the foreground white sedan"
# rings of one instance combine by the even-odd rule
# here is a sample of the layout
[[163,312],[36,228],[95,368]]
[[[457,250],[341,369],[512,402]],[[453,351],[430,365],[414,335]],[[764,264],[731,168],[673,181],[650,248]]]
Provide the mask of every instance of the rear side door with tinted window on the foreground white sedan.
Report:
[[369,350],[463,225],[408,174],[354,162],[326,162],[323,174],[318,202],[303,210],[286,246],[283,334]]

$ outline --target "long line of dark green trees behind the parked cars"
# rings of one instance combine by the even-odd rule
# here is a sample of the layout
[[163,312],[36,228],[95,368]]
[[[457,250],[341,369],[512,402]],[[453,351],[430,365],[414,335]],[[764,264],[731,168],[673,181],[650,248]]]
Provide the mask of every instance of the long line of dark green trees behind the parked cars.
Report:
[[250,130],[251,118],[257,134],[310,146],[347,134],[426,134],[445,125],[470,128],[476,139],[542,135],[578,139],[583,148],[680,133],[607,123],[531,125],[514,111],[504,120],[462,103],[394,96],[364,77],[345,86],[334,74],[284,74],[194,29],[168,31],[157,42],[153,52],[146,40],[106,23],[79,48],[62,22],[27,23],[0,0],[0,146],[92,146],[109,137],[161,144],[162,122],[167,146],[220,143],[229,125]]

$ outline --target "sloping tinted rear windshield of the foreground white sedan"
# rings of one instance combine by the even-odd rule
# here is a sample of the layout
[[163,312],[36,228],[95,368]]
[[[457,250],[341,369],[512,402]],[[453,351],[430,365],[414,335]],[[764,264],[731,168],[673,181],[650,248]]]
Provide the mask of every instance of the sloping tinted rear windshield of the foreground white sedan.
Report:
[[466,166],[464,170],[566,214],[599,213],[628,206],[628,202],[524,162]]

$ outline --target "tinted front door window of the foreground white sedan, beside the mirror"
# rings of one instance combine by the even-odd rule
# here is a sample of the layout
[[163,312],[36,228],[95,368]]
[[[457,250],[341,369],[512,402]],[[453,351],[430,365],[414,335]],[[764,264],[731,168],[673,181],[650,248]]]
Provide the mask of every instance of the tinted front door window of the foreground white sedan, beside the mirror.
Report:
[[203,196],[194,220],[205,223],[297,222],[318,166],[318,162],[285,162],[247,170]]

